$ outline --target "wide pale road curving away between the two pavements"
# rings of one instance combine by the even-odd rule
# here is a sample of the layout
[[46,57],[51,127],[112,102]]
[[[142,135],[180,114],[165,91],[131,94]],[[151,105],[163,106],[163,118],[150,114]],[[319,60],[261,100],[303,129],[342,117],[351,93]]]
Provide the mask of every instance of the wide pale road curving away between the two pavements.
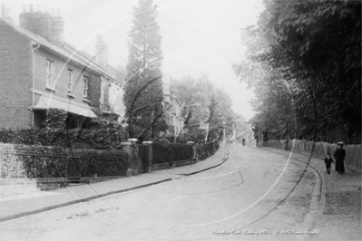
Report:
[[264,149],[230,151],[223,165],[196,175],[0,223],[0,240],[308,237],[296,232],[307,229],[314,172]]

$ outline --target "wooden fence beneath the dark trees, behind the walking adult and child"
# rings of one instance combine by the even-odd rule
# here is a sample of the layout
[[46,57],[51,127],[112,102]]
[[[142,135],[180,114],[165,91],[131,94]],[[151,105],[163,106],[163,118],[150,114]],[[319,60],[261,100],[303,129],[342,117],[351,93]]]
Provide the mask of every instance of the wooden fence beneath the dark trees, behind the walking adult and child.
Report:
[[[330,144],[327,142],[314,142],[307,140],[267,140],[263,141],[263,147],[275,148],[275,149],[285,149],[292,150],[294,144],[293,151],[302,153],[302,154],[310,154],[313,145],[314,149],[312,155],[314,157],[318,157],[324,159],[327,153],[330,153],[331,157],[333,157],[333,153],[337,149],[337,144]],[[344,147],[346,149],[346,163],[349,169],[353,169],[357,172],[361,172],[361,145],[346,145]]]

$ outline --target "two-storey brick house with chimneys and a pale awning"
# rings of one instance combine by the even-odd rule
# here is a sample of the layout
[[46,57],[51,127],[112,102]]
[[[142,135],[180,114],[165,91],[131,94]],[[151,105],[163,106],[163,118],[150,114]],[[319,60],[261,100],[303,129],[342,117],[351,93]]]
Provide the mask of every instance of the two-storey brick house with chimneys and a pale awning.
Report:
[[68,111],[73,126],[104,114],[122,116],[125,71],[107,63],[107,44],[97,38],[95,57],[64,42],[64,20],[26,9],[20,26],[0,18],[0,128],[41,127],[48,108]]

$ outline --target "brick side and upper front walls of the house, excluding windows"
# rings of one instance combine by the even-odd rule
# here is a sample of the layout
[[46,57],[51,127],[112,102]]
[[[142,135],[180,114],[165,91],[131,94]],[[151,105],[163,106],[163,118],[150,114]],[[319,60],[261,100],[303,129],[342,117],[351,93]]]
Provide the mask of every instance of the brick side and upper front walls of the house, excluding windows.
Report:
[[[0,128],[27,128],[33,126],[33,123],[39,126],[44,113],[33,115],[29,110],[39,100],[39,92],[33,94],[32,88],[62,97],[64,101],[71,98],[89,104],[83,98],[83,76],[92,82],[95,75],[95,79],[99,78],[97,73],[87,68],[83,71],[82,64],[68,60],[43,45],[33,50],[34,42],[29,37],[19,34],[1,19],[0,36]],[[53,61],[54,90],[46,86],[47,60]],[[73,75],[71,94],[68,94],[69,70],[72,70]]]

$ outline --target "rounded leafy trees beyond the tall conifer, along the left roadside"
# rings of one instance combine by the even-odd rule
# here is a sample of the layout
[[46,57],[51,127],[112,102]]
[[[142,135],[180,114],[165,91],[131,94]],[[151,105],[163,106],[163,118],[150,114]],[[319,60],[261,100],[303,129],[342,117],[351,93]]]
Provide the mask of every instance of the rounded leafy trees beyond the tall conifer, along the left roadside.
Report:
[[[209,123],[208,140],[218,140],[226,119],[227,133],[232,132],[231,126],[239,116],[232,111],[232,101],[228,93],[217,88],[210,82],[207,75],[199,78],[184,76],[171,79],[170,90],[184,106],[182,111],[185,120],[183,139],[204,141],[206,130],[199,129],[201,122]],[[238,125],[239,126],[239,125]]]

